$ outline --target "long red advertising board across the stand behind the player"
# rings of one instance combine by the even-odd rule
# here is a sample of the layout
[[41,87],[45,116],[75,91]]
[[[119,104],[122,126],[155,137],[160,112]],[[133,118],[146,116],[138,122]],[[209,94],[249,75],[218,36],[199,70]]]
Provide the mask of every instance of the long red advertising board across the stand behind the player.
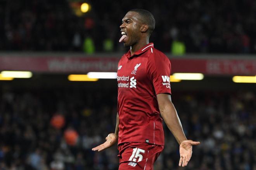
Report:
[[[209,75],[256,75],[256,59],[171,58],[172,73]],[[119,58],[0,56],[0,70],[47,73],[87,73],[117,71]]]

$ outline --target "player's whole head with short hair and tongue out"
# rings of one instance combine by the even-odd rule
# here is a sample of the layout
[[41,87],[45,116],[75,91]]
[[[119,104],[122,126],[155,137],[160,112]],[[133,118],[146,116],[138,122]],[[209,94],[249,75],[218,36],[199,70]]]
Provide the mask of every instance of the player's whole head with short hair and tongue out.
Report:
[[150,34],[155,29],[154,16],[144,9],[130,10],[122,20],[121,33],[123,35],[120,42],[125,46],[132,46],[141,39],[149,39]]

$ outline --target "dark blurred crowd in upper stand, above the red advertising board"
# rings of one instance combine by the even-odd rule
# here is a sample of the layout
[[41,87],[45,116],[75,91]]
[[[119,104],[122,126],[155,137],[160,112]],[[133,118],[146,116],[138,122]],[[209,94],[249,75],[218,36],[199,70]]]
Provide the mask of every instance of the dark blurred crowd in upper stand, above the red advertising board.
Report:
[[91,10],[80,16],[72,2],[1,1],[0,50],[123,51],[121,19],[144,8],[156,18],[150,41],[161,51],[181,42],[187,53],[256,53],[255,0],[88,0]]

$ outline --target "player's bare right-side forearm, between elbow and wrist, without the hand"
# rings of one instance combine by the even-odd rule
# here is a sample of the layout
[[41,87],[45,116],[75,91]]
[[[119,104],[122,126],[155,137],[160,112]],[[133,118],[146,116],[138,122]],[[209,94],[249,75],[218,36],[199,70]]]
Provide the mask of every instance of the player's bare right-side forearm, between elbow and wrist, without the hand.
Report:
[[167,127],[170,129],[171,133],[175,137],[176,141],[182,143],[183,140],[187,140],[183,129],[182,124],[180,122],[180,118],[176,112],[176,109],[172,102],[168,102],[164,105],[163,108],[159,108],[161,112],[161,116],[164,119]]

